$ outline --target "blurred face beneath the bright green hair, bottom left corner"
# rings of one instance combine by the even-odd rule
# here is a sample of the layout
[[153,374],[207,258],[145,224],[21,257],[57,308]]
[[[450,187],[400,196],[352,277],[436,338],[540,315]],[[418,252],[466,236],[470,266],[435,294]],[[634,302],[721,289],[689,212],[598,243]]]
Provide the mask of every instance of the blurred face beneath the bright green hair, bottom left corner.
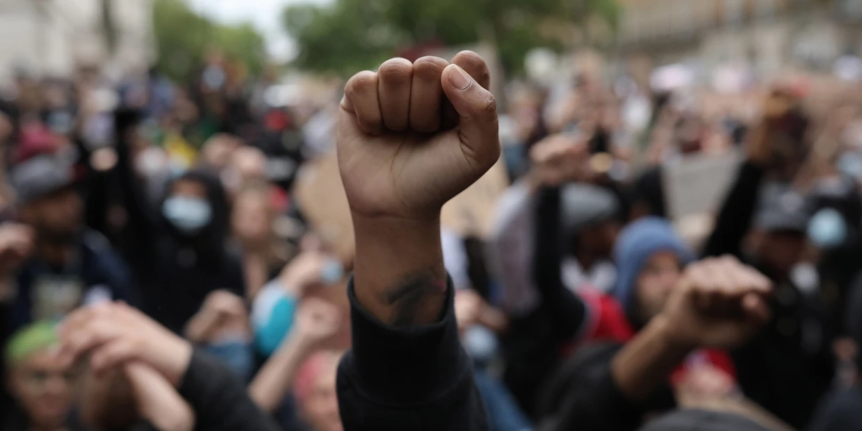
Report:
[[72,380],[72,372],[60,365],[52,349],[43,349],[13,366],[9,384],[34,428],[52,429],[66,422]]

